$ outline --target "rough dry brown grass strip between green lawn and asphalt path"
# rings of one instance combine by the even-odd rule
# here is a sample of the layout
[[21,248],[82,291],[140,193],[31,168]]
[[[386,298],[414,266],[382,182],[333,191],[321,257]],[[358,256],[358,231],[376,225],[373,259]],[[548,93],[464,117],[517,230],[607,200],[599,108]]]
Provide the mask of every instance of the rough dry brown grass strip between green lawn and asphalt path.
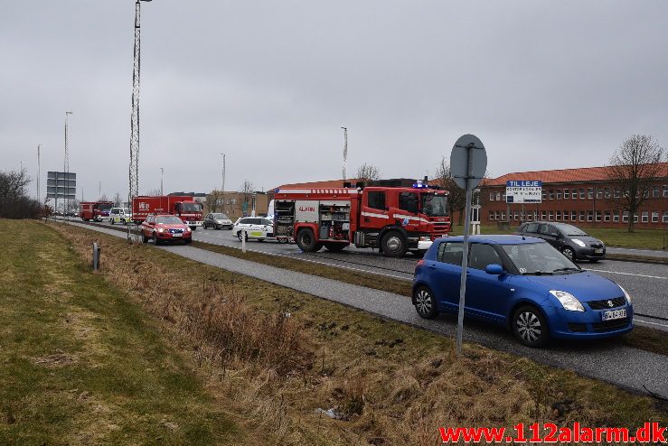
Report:
[[150,246],[56,228],[84,258],[97,239],[102,274],[165,322],[250,443],[435,445],[439,426],[668,422],[646,397],[526,358],[475,345],[455,358],[450,339],[427,331]]

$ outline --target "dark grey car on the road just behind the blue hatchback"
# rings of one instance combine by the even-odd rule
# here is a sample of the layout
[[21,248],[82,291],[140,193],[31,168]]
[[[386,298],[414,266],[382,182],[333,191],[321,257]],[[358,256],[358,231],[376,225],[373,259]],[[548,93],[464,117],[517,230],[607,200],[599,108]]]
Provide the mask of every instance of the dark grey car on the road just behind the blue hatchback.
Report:
[[566,223],[529,221],[522,223],[517,233],[542,238],[571,260],[597,262],[606,258],[606,246],[602,241]]

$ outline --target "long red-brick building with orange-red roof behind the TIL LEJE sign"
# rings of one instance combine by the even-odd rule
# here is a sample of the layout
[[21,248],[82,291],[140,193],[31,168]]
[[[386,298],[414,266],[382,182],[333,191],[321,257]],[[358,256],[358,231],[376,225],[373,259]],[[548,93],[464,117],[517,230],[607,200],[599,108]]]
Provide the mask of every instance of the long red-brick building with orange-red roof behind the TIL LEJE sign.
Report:
[[[661,163],[661,170],[633,217],[636,228],[668,228],[668,163]],[[513,228],[525,220],[541,219],[582,227],[625,227],[631,217],[613,202],[622,192],[608,178],[606,167],[507,173],[481,184],[481,222],[509,222]],[[507,204],[506,181],[542,181],[542,203]]]

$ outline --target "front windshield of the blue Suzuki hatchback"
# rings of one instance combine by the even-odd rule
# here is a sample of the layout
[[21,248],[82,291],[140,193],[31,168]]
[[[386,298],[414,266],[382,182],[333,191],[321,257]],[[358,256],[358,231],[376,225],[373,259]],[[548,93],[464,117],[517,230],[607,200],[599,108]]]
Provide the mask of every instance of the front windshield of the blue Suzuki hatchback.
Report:
[[520,274],[572,274],[582,270],[548,243],[501,245]]

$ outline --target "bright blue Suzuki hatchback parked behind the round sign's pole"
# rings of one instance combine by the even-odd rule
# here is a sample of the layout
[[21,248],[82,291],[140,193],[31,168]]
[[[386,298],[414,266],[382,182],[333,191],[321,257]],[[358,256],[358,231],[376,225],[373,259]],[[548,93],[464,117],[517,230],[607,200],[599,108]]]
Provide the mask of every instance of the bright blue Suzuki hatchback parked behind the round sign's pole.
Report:
[[[633,330],[624,288],[582,270],[541,238],[472,236],[469,242],[466,316],[508,327],[529,347]],[[464,237],[438,238],[419,261],[413,304],[422,318],[458,310],[463,246]]]

